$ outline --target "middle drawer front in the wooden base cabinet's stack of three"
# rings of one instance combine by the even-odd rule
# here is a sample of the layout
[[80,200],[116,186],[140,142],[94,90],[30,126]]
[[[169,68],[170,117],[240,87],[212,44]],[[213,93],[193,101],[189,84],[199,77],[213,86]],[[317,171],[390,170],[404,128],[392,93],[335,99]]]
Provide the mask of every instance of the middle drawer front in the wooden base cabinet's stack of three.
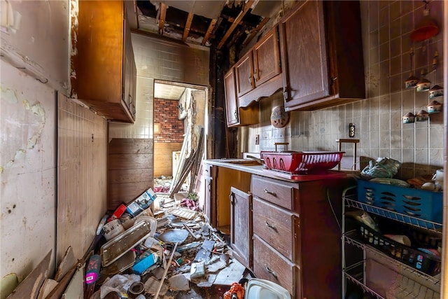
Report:
[[293,237],[294,215],[258,198],[253,199],[253,232],[293,260],[295,237]]

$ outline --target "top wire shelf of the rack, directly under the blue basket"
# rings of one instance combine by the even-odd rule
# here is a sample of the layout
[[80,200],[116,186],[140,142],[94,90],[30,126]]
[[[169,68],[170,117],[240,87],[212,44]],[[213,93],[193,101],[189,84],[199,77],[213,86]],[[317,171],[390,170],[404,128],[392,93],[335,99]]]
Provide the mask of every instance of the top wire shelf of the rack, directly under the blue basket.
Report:
[[431,230],[433,232],[442,234],[442,224],[441,223],[423,220],[421,218],[416,218],[416,217],[408,216],[405,214],[400,214],[395,211],[389,211],[388,209],[374,207],[370,204],[365,204],[364,202],[358,202],[358,200],[356,200],[356,195],[346,196],[345,197],[345,205],[346,205],[346,207],[362,209],[362,210],[367,211],[372,214],[377,214],[379,216],[390,218],[395,221],[400,221],[402,223],[414,225],[418,228],[424,228],[426,230]]

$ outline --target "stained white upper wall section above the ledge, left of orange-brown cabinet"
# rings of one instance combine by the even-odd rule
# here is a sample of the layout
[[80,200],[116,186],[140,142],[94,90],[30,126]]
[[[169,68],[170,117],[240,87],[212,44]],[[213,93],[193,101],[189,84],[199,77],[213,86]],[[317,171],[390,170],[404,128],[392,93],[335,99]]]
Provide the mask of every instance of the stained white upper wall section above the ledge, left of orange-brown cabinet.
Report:
[[2,0],[0,4],[2,59],[67,95],[69,0]]

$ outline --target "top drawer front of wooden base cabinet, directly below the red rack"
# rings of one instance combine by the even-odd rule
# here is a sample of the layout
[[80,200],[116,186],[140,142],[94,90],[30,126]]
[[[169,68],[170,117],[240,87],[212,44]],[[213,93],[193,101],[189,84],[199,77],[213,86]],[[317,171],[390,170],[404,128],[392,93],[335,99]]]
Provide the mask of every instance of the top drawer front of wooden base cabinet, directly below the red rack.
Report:
[[[298,203],[298,198],[295,200],[295,195],[298,194],[296,190],[292,184],[289,185],[283,181],[262,176],[253,176],[252,178],[251,191],[253,195],[286,209],[292,210],[294,202]],[[297,209],[294,210],[297,211]]]

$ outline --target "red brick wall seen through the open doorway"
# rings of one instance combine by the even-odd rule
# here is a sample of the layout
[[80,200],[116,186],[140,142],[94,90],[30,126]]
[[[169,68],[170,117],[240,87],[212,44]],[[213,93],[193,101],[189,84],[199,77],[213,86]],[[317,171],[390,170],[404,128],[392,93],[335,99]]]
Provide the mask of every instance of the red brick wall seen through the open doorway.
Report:
[[179,101],[154,99],[154,142],[183,142],[183,120],[179,120]]

